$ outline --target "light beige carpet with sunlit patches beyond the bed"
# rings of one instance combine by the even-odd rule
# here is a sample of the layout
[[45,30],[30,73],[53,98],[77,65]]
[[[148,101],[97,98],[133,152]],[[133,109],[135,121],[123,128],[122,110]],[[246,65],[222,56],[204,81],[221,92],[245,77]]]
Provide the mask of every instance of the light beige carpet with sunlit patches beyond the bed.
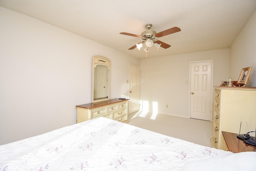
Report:
[[211,147],[213,122],[161,113],[137,111],[128,115],[130,125]]

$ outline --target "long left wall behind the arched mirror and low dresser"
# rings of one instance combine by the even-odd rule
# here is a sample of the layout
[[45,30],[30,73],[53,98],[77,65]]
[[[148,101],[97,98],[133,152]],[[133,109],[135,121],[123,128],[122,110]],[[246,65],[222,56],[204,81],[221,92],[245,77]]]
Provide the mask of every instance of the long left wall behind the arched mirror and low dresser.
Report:
[[111,98],[128,98],[140,60],[0,7],[0,145],[76,123],[91,102],[92,56],[112,61]]

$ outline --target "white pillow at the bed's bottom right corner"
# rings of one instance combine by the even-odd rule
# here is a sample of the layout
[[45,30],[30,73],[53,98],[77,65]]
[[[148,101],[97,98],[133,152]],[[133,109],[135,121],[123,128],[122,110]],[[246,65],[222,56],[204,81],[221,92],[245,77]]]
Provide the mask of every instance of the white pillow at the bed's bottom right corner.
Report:
[[188,161],[182,171],[256,171],[256,152],[233,153],[200,161]]

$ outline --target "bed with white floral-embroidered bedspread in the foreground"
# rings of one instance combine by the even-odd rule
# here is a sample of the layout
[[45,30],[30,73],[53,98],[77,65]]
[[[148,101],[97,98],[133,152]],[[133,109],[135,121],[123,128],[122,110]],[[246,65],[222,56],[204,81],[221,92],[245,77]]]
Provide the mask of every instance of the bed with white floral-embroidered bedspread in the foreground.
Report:
[[0,171],[200,170],[199,165],[216,165],[216,159],[222,162],[232,156],[229,151],[99,117],[0,145]]

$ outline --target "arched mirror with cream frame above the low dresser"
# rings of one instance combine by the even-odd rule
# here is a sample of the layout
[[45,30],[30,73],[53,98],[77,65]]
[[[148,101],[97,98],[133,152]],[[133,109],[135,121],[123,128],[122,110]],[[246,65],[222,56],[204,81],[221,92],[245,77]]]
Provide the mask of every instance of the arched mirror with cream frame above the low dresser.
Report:
[[92,103],[110,99],[110,60],[94,56],[92,61]]

